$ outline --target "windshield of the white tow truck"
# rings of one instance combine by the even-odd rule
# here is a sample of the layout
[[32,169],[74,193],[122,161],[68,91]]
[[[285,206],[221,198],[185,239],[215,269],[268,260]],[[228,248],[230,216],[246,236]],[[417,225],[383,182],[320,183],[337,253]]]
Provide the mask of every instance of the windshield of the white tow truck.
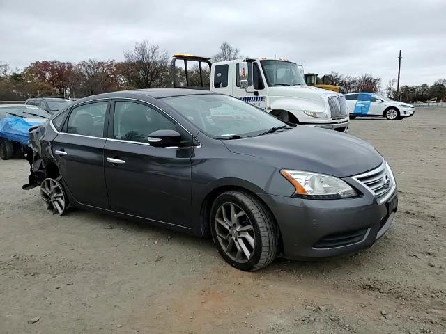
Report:
[[268,86],[306,86],[298,65],[289,61],[260,61]]

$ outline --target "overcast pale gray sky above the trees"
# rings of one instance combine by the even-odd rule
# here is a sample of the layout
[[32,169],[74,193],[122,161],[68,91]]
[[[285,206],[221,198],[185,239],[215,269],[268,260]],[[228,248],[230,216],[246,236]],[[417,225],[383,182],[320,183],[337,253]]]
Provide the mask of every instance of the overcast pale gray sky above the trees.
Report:
[[[241,3],[249,3],[242,5]],[[446,0],[113,1],[0,0],[0,62],[123,60],[134,42],[169,54],[289,58],[305,72],[371,73],[401,84],[446,78]]]

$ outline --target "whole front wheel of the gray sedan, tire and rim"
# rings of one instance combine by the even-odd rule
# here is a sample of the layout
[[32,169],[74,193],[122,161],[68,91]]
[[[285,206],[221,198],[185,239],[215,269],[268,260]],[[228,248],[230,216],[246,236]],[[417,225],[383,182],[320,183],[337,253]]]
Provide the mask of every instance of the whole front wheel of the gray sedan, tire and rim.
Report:
[[231,266],[256,271],[277,256],[279,231],[268,209],[243,191],[226,191],[210,210],[210,230],[217,249]]

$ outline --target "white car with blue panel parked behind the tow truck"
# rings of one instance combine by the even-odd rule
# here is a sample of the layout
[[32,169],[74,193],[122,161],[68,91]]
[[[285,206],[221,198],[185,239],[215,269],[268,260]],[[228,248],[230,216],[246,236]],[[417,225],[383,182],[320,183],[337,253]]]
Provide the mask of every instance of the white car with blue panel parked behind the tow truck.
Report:
[[402,120],[413,116],[415,106],[404,102],[390,100],[374,93],[346,94],[346,103],[350,118],[356,116],[383,116],[387,120]]

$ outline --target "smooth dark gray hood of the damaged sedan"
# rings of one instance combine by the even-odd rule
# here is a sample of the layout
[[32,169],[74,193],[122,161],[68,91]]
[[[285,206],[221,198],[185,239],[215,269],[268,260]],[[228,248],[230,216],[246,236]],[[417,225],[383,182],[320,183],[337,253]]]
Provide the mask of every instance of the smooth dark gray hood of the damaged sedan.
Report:
[[347,177],[376,168],[383,157],[369,143],[316,127],[224,141],[229,151],[263,159],[276,168]]

